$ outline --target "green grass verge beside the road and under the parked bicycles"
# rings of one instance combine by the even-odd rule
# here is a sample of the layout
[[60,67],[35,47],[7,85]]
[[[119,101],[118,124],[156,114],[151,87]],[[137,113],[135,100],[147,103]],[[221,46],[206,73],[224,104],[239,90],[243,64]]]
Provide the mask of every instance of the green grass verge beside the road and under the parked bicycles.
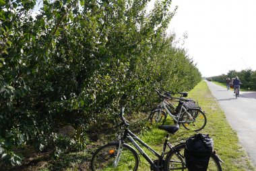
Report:
[[[203,111],[206,113],[207,124],[205,128],[201,130],[201,133],[208,133],[210,137],[214,139],[214,149],[217,151],[218,156],[224,161],[222,164],[222,170],[226,171],[250,171],[256,170],[252,162],[249,160],[247,153],[239,144],[236,131],[234,131],[228,122],[226,121],[226,116],[220,106],[210,93],[210,90],[207,87],[207,84],[204,81],[201,81],[195,89],[189,92],[189,98],[193,98],[198,101],[199,105],[202,107]],[[137,117],[141,115],[137,115]],[[143,115],[145,119],[146,115]],[[144,120],[146,121],[146,120]],[[131,121],[130,121],[131,122]],[[170,117],[168,117],[168,124],[173,124]],[[172,144],[178,144],[176,139],[178,137],[189,137],[193,135],[194,132],[187,131],[181,125],[181,129],[177,131],[175,135],[170,137],[170,142]],[[143,139],[148,145],[150,145],[158,153],[161,152],[162,144],[164,142],[164,136],[166,133],[160,129],[157,129],[156,126],[152,126],[150,129],[143,129],[137,135]],[[23,167],[23,171],[28,170],[40,170],[40,171],[50,171],[50,170],[90,170],[90,158],[92,152],[95,148],[99,146],[98,144],[92,144],[88,146],[88,149],[84,152],[73,152],[61,156],[57,160],[51,160],[51,158],[41,158],[38,159],[38,162],[34,162],[34,166],[28,164]],[[150,157],[152,154],[143,148]],[[141,164],[139,165],[139,170],[148,171],[150,166],[146,160],[139,155]]]

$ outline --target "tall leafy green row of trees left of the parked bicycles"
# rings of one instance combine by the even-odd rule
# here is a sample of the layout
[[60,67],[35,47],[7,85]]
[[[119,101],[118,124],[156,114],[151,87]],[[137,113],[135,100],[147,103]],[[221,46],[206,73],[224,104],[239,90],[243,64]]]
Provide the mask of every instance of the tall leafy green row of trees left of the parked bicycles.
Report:
[[[41,2],[42,3],[42,2]],[[155,89],[189,91],[201,73],[175,34],[170,1],[0,0],[0,156],[21,164],[32,146],[83,149],[115,125],[120,106],[150,110]],[[61,137],[65,125],[73,137]],[[0,164],[1,165],[1,164]]]

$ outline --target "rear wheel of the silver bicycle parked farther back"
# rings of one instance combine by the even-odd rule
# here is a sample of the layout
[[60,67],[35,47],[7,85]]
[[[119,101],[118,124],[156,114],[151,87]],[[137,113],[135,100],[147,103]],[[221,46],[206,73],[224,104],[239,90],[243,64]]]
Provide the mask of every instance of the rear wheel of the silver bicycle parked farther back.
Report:
[[201,109],[187,109],[187,112],[190,113],[193,118],[189,117],[186,112],[181,115],[181,123],[185,129],[200,131],[205,127],[207,119],[205,113]]

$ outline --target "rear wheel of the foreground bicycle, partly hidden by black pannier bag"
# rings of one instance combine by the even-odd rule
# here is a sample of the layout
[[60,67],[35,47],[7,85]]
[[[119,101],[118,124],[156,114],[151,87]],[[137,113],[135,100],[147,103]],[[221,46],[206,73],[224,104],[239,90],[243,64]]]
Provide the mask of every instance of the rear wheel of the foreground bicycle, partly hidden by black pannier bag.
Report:
[[[181,156],[177,157],[175,155],[175,152],[168,152],[166,159],[165,159],[165,170],[182,170],[187,171],[187,168],[185,166],[185,157],[184,157],[184,150],[186,148],[185,144],[179,144],[174,147],[175,152],[179,152]],[[212,156],[210,157],[210,161],[208,164],[207,171],[222,171],[222,166],[220,165],[220,161],[216,154],[212,153]]]

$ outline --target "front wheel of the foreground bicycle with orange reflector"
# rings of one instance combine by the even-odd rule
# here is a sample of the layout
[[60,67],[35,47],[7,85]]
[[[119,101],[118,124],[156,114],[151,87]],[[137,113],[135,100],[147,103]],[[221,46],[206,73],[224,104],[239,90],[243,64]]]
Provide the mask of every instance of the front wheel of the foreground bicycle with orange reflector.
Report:
[[139,166],[139,157],[137,152],[128,144],[123,144],[123,150],[118,166],[113,166],[118,148],[119,142],[111,142],[98,148],[92,156],[91,169],[93,171],[136,171]]

